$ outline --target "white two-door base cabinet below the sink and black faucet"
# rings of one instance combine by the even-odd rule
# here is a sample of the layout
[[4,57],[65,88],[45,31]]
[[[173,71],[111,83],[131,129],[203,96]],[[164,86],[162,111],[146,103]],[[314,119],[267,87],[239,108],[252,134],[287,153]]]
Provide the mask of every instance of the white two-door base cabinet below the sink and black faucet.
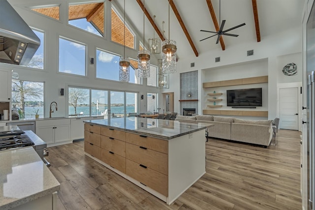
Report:
[[70,119],[36,120],[36,134],[48,147],[71,143]]

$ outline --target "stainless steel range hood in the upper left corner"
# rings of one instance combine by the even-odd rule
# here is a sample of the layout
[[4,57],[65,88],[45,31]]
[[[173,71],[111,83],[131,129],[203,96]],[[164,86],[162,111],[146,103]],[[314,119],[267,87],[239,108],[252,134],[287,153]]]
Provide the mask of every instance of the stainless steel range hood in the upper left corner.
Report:
[[0,62],[28,65],[40,39],[7,0],[0,0]]

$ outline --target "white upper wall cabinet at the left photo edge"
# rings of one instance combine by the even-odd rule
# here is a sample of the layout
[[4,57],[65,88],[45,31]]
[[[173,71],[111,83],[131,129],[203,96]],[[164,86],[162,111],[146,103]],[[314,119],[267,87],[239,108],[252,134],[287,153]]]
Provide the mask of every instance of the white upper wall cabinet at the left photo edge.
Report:
[[11,71],[0,70],[0,101],[11,100]]

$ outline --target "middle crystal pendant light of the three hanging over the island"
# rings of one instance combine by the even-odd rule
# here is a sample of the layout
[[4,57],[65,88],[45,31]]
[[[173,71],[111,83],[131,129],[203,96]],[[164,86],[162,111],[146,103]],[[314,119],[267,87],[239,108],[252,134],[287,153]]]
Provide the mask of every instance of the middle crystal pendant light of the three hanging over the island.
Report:
[[144,48],[144,1],[143,0],[143,50],[138,52],[138,77],[148,78],[150,77],[150,51]]

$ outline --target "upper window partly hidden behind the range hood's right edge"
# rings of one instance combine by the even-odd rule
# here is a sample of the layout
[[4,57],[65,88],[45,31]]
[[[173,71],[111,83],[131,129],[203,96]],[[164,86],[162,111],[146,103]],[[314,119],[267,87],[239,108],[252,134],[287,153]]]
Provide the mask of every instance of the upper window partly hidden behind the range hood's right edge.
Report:
[[40,39],[40,45],[29,62],[28,67],[44,69],[44,33],[38,30],[33,31]]

